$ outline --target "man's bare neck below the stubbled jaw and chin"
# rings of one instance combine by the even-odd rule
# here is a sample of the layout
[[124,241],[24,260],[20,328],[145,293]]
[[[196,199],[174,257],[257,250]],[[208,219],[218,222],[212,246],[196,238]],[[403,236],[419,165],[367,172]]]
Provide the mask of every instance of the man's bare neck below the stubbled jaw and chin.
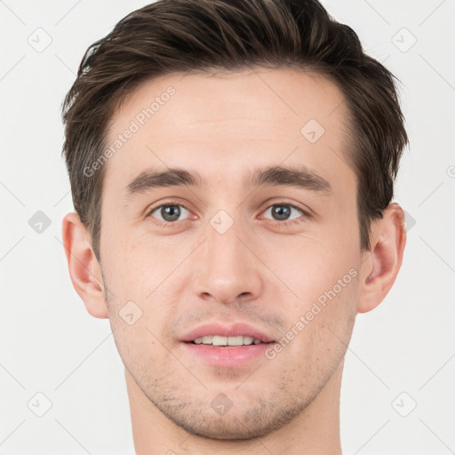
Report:
[[215,440],[175,425],[148,400],[128,370],[126,387],[136,455],[251,454],[341,455],[339,390],[344,361],[305,411],[273,433],[248,440]]

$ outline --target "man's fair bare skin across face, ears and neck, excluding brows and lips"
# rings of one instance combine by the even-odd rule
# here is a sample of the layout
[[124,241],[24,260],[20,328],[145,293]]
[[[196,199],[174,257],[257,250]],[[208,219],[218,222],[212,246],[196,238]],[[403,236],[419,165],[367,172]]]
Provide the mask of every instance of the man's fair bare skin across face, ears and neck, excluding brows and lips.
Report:
[[[395,281],[403,210],[390,204],[372,225],[371,251],[361,251],[343,95],[323,76],[289,68],[148,81],[113,116],[107,143],[170,85],[172,99],[105,164],[100,263],[76,213],[63,220],[75,289],[91,315],[109,318],[124,362],[136,451],[340,454],[344,355],[357,313],[377,307]],[[325,130],[314,144],[300,132],[311,118]],[[331,194],[243,187],[249,171],[273,164],[305,164]],[[201,173],[209,189],[125,197],[140,172],[168,166]],[[159,210],[147,216],[179,202],[188,212],[171,226],[153,223],[152,215],[164,222]],[[292,209],[300,222],[291,225],[267,210],[274,204],[312,216]],[[210,224],[220,210],[234,221],[224,234]],[[216,321],[281,339],[350,269],[350,283],[272,360],[218,368],[180,342]],[[129,325],[119,311],[131,300],[142,315]],[[219,394],[232,403],[223,416],[211,405]]]

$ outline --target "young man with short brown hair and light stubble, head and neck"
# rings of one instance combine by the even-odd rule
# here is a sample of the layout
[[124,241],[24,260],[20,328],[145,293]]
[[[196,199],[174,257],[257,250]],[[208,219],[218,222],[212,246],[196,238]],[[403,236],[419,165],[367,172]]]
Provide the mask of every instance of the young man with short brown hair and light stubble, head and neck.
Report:
[[339,454],[355,315],[402,264],[393,76],[315,0],[162,0],[64,104],[69,273],[139,455]]

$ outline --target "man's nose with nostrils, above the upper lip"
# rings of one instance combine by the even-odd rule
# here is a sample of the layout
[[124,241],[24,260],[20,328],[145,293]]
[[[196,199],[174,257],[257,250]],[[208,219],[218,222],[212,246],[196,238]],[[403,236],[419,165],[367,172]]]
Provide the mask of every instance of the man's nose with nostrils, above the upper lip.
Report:
[[235,222],[223,234],[208,224],[193,269],[194,291],[200,299],[228,305],[258,298],[264,266],[249,239],[240,223]]

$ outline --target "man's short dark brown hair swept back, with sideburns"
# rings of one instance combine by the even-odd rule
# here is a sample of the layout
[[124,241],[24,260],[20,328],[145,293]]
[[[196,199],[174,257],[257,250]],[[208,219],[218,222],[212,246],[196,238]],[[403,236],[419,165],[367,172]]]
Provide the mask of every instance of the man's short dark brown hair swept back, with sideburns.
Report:
[[253,65],[306,68],[344,93],[361,248],[371,249],[371,221],[382,218],[394,196],[408,143],[395,76],[317,0],[159,0],[128,14],[87,49],[62,107],[73,203],[98,259],[105,166],[91,176],[84,169],[101,156],[108,122],[124,97],[155,76]]

